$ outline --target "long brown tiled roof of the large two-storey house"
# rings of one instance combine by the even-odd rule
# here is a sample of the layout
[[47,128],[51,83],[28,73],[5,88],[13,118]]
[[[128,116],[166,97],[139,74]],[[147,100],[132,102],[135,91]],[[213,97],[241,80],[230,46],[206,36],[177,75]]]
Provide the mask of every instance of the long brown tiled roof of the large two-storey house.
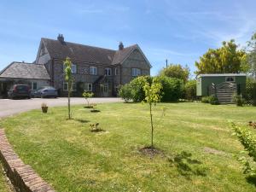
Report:
[[136,49],[137,45],[126,47],[122,50],[103,49],[84,44],[61,42],[59,40],[42,38],[42,42],[49,52],[51,58],[66,59],[73,61],[86,61],[90,63],[118,64]]

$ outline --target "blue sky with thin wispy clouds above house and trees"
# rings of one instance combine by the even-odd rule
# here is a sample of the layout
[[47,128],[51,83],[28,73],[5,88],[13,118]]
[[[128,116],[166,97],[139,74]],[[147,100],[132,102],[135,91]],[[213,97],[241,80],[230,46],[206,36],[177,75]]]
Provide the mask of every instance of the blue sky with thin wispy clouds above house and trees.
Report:
[[157,74],[172,63],[194,63],[209,48],[236,39],[241,46],[256,31],[256,1],[1,1],[0,70],[11,61],[32,62],[40,38],[118,49],[139,44]]

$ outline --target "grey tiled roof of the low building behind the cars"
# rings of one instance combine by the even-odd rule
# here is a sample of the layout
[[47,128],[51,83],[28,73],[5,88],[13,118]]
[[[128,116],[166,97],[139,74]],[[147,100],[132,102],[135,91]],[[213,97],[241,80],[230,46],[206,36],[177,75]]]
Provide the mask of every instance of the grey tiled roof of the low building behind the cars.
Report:
[[26,62],[12,62],[0,72],[0,78],[50,79],[44,65]]

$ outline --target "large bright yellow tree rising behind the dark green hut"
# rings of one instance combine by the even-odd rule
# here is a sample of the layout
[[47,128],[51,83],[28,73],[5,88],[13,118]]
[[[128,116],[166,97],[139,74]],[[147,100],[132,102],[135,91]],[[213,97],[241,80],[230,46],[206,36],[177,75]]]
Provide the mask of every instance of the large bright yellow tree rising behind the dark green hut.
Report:
[[196,74],[201,73],[241,73],[247,70],[247,55],[238,49],[235,40],[223,42],[218,49],[208,49],[207,53],[195,61]]

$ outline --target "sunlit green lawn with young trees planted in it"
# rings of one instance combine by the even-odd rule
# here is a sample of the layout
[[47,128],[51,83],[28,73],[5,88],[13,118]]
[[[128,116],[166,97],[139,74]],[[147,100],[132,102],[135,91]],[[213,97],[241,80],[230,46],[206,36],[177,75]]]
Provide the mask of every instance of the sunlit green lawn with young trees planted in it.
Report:
[[[255,191],[234,156],[242,147],[229,120],[247,125],[256,108],[160,103],[154,107],[154,143],[164,155],[153,159],[139,152],[150,144],[147,104],[98,109],[75,106],[72,120],[67,108],[33,110],[0,125],[21,159],[57,191]],[[89,131],[96,122],[105,132]]]

